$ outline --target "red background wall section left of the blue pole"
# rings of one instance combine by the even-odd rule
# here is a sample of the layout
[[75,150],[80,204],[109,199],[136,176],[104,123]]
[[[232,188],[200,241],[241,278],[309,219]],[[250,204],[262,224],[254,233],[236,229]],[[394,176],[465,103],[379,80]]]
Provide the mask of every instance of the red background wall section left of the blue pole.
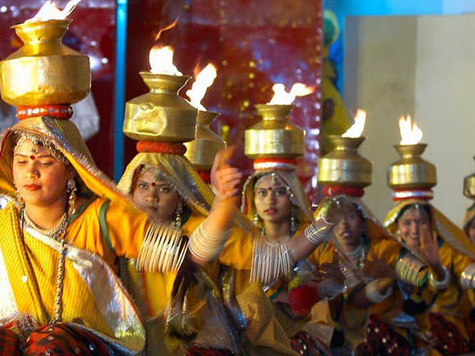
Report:
[[[10,26],[34,16],[43,2],[1,1],[1,59],[22,45]],[[67,3],[56,2],[60,9]],[[115,9],[115,0],[82,0],[71,15],[73,22],[63,38],[66,46],[93,58],[92,92],[100,115],[100,132],[87,143],[95,162],[110,177],[113,177],[114,169]]]

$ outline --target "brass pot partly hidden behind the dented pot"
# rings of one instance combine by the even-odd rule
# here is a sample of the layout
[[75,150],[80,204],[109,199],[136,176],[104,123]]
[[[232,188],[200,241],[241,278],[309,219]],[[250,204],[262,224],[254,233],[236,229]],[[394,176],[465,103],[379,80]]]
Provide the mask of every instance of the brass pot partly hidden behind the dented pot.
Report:
[[211,171],[216,153],[226,148],[226,142],[209,130],[209,123],[218,115],[217,112],[198,110],[196,138],[184,144],[187,147],[184,155],[197,171]]

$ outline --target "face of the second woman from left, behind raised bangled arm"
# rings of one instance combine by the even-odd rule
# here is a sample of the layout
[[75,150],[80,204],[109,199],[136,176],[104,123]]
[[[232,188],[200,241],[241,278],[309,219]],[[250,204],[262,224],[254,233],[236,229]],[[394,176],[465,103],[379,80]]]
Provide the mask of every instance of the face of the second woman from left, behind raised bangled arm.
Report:
[[153,169],[148,169],[137,177],[132,196],[152,218],[162,222],[172,221],[181,199],[167,182],[157,179]]

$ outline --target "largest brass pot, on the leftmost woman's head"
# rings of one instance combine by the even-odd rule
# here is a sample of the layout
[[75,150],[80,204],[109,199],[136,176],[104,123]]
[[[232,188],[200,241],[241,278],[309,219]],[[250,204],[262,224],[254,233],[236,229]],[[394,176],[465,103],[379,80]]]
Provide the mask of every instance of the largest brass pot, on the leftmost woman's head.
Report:
[[70,20],[12,26],[24,46],[0,63],[1,98],[14,106],[73,104],[90,90],[89,58],[64,46]]

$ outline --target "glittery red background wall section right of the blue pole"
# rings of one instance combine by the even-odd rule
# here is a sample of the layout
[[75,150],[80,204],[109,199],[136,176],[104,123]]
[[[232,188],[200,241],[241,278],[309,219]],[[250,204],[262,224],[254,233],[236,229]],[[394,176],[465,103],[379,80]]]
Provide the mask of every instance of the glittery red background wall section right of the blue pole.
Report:
[[[320,0],[132,0],[128,7],[127,100],[146,92],[138,72],[150,69],[148,51],[155,36],[175,19],[177,25],[160,36],[161,46],[175,50],[174,63],[192,75],[208,62],[218,77],[202,101],[221,112],[212,128],[229,127],[228,142],[241,139],[259,120],[254,104],[272,97],[272,85],[295,82],[316,85],[312,95],[297,98],[291,120],[306,130],[306,157],[299,174],[315,196],[319,155],[322,4]],[[187,85],[182,93],[189,88]],[[315,130],[316,129],[316,130]],[[135,142],[125,141],[125,160],[135,155]]]

